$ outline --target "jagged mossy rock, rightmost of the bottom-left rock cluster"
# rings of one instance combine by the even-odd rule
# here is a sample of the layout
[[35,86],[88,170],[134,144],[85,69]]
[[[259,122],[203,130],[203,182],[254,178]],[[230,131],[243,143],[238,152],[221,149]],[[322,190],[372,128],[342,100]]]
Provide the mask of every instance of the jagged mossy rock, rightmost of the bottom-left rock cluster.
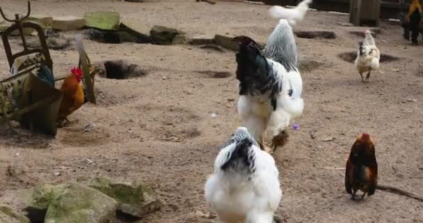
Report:
[[141,218],[161,208],[161,202],[154,199],[150,194],[150,190],[142,185],[113,182],[106,178],[95,178],[91,180],[89,186],[116,199],[119,203],[118,210],[128,215]]

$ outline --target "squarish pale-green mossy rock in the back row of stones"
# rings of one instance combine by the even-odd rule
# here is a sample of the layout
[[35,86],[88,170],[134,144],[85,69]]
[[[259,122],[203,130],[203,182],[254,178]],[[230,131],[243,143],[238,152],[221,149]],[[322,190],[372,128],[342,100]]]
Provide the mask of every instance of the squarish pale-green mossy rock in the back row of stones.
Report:
[[86,26],[103,29],[103,30],[118,30],[120,24],[119,13],[112,11],[95,11],[85,13],[84,19]]

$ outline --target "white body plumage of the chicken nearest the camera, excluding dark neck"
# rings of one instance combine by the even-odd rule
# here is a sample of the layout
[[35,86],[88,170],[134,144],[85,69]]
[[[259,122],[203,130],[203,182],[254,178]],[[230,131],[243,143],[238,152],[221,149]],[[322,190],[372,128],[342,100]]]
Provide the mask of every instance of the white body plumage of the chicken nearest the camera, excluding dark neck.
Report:
[[271,223],[282,199],[275,160],[253,145],[250,149],[255,153],[256,168],[252,175],[247,176],[244,171],[222,171],[235,147],[235,143],[230,144],[218,153],[214,174],[205,183],[206,201],[221,222]]

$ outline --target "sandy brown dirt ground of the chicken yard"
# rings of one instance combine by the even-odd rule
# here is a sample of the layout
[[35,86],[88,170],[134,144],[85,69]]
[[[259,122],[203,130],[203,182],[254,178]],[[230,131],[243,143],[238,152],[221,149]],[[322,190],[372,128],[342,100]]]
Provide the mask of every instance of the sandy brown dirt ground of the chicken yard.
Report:
[[[83,16],[89,10],[116,10],[148,25],[161,24],[191,36],[246,35],[265,43],[277,21],[270,6],[195,1],[33,0],[33,14]],[[20,12],[24,1],[1,1],[6,13]],[[325,63],[302,72],[305,112],[296,120],[289,144],[275,155],[283,198],[278,209],[286,222],[423,222],[423,203],[376,191],[351,201],[344,190],[344,167],[360,132],[377,140],[379,183],[423,194],[423,48],[401,36],[398,24],[381,22],[375,40],[383,62],[370,82],[337,54],[354,52],[362,37],[343,26],[348,15],[310,11],[295,27],[334,31],[335,39],[296,38],[298,53]],[[97,77],[98,105],[86,104],[70,116],[71,125],[55,138],[24,130],[18,141],[6,125],[0,132],[0,194],[42,183],[108,176],[150,185],[163,208],[139,222],[216,222],[205,204],[203,186],[212,173],[218,146],[241,125],[237,116],[234,52],[191,45],[102,44],[85,42],[92,61],[123,59],[145,68],[145,77]],[[17,45],[14,45],[17,47]],[[77,66],[76,49],[50,51],[54,72]],[[8,75],[1,48],[0,77]],[[230,72],[214,78],[214,72]],[[216,114],[216,117],[212,117]],[[93,124],[89,132],[84,132]],[[25,133],[26,132],[26,133]],[[310,137],[315,132],[315,138]],[[327,141],[326,139],[332,139]],[[90,162],[93,161],[93,163]],[[13,176],[6,174],[6,167]],[[60,173],[60,176],[57,176]],[[1,198],[0,198],[1,199]]]

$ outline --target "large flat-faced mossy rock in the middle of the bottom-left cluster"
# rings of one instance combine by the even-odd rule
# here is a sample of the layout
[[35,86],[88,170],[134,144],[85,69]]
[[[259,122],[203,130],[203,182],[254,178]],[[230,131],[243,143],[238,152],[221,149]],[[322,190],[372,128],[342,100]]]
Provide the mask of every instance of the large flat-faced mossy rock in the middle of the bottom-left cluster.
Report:
[[45,223],[93,222],[115,220],[118,203],[98,190],[79,183],[58,185],[51,190]]

